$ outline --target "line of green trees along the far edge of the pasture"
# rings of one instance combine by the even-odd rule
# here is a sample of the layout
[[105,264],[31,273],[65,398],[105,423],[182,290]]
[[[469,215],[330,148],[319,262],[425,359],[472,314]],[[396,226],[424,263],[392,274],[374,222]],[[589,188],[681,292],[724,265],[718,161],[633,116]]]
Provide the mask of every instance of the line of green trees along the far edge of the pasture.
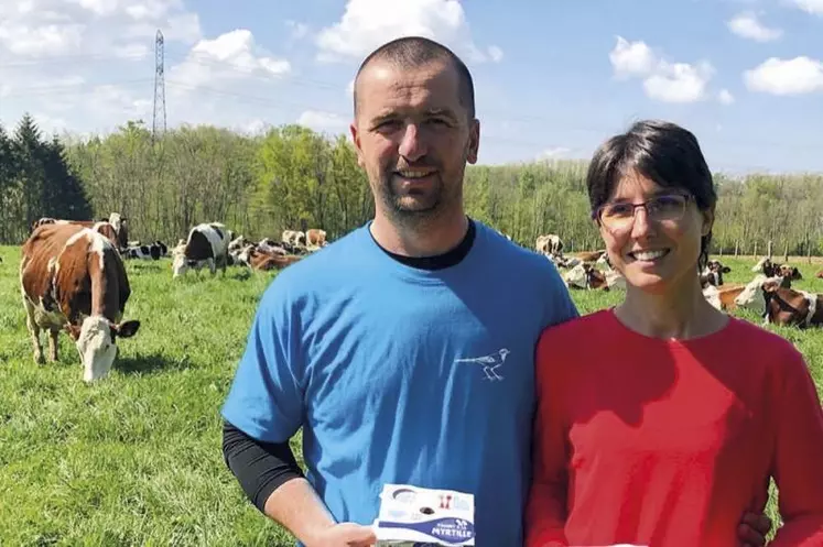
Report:
[[[557,233],[570,250],[602,245],[585,161],[468,166],[468,214],[533,248]],[[715,174],[713,253],[823,254],[823,174]],[[0,243],[20,244],[41,217],[129,218],[130,239],[174,243],[206,221],[252,239],[323,228],[336,239],[373,215],[345,134],[286,124],[266,134],[181,127],[152,139],[141,120],[107,135],[46,139],[24,116],[0,127]]]

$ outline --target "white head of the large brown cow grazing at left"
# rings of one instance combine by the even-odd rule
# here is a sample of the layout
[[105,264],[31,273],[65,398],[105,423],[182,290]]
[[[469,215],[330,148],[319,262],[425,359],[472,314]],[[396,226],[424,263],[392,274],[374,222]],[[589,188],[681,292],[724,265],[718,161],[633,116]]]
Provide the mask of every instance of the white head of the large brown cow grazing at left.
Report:
[[101,316],[89,316],[83,324],[67,325],[83,361],[83,380],[94,382],[106,378],[117,357],[117,338],[131,338],[140,328],[140,321],[112,324]]

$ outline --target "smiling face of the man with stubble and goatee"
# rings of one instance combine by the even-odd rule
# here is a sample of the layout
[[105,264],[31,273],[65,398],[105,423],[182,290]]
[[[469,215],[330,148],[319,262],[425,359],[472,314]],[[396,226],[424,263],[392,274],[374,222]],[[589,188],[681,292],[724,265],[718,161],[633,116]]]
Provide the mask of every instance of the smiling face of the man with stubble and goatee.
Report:
[[477,161],[479,122],[461,105],[454,68],[377,61],[360,74],[357,99],[351,136],[378,214],[398,221],[463,215],[463,173]]

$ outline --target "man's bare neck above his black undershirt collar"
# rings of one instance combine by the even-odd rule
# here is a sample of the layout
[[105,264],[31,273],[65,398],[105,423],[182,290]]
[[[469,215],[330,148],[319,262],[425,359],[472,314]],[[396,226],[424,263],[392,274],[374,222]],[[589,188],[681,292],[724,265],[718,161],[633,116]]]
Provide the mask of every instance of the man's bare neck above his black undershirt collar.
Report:
[[402,226],[385,215],[371,222],[371,236],[387,251],[402,256],[434,256],[457,247],[468,230],[465,214],[444,216],[431,222]]

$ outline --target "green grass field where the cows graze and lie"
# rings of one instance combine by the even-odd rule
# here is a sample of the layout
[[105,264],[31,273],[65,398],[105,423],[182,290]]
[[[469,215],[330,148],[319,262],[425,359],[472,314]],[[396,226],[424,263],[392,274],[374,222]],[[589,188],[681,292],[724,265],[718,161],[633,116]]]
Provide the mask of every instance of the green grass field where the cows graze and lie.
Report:
[[[19,248],[0,247],[0,545],[292,545],[246,501],[220,452],[218,411],[275,274],[229,269],[225,280],[173,283],[169,260],[128,262],[126,318],[142,325],[120,342],[109,379],[89,386],[66,336],[59,362],[34,364]],[[727,283],[754,275],[751,259],[724,263]],[[823,292],[817,266],[797,265],[805,276],[797,285]],[[620,297],[574,292],[582,313]],[[823,392],[823,331],[778,331],[806,355]],[[293,447],[300,453],[299,439]]]

